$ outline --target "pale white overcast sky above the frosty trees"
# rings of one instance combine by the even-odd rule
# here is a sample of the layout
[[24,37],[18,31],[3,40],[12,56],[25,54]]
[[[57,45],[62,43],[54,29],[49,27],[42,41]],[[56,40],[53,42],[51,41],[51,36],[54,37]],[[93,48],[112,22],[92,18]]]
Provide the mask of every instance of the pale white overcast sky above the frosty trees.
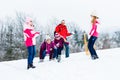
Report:
[[20,11],[37,17],[42,25],[58,18],[89,31],[90,14],[95,10],[100,17],[99,30],[106,32],[120,29],[119,3],[119,0],[0,0],[0,18]]

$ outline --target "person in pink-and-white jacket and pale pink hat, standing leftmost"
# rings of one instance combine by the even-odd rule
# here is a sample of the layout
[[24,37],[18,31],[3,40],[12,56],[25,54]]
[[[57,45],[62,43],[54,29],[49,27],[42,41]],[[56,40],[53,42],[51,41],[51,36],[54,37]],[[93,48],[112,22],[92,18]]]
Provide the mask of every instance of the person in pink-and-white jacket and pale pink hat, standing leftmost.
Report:
[[34,26],[33,26],[33,23],[32,23],[32,19],[30,19],[30,18],[26,19],[23,33],[24,33],[25,45],[26,45],[26,47],[28,49],[28,65],[27,65],[27,69],[35,68],[35,66],[33,66],[33,59],[34,59],[35,54],[36,54],[35,37],[36,37],[36,35],[39,34],[39,32],[34,31]]

